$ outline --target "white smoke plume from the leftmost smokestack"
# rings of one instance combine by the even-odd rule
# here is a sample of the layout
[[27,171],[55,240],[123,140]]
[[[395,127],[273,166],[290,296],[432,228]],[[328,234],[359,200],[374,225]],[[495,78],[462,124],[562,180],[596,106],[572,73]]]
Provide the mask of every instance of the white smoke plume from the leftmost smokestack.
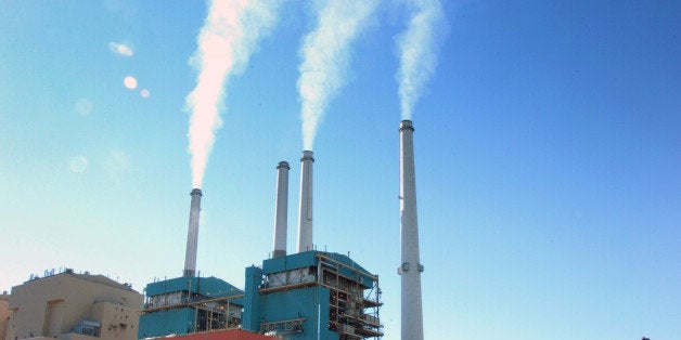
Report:
[[218,114],[229,76],[242,71],[258,41],[274,24],[278,1],[213,0],[198,34],[190,64],[198,71],[196,87],[187,96],[191,113],[189,152],[192,184],[201,188],[215,132],[222,126]]

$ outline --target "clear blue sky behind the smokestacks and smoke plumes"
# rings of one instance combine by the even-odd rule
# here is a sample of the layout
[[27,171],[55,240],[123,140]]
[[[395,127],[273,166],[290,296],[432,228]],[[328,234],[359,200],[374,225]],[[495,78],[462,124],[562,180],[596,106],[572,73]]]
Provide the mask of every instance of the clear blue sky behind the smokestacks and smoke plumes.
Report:
[[[679,339],[681,2],[442,5],[412,118],[426,338]],[[206,4],[1,8],[0,290],[64,266],[140,291],[181,275],[189,60]],[[203,181],[197,269],[239,287],[271,251],[280,160],[296,246],[296,83],[316,15],[307,1],[275,13],[224,87]],[[391,1],[367,17],[313,146],[314,244],[380,275],[385,339],[400,331],[396,36],[408,18]]]

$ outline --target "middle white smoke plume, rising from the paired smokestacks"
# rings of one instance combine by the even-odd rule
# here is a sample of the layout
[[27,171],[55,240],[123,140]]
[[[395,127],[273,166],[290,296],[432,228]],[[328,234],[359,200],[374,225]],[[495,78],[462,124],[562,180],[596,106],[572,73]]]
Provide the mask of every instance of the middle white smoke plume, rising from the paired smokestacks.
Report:
[[312,149],[319,119],[329,101],[344,86],[349,45],[376,6],[375,0],[318,1],[317,27],[303,42],[298,67],[303,144]]

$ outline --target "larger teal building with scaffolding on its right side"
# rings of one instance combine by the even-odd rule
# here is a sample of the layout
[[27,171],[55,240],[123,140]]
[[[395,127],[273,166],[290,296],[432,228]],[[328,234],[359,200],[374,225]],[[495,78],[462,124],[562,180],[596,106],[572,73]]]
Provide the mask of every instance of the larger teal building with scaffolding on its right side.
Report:
[[378,276],[350,258],[306,251],[246,269],[243,328],[284,339],[382,337]]

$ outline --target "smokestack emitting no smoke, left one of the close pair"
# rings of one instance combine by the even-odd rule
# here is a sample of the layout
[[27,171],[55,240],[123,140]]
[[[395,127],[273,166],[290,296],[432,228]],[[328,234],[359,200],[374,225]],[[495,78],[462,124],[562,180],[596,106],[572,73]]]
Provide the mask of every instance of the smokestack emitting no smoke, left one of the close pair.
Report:
[[288,162],[277,167],[277,202],[274,204],[274,249],[272,258],[286,256],[286,221],[288,219]]

